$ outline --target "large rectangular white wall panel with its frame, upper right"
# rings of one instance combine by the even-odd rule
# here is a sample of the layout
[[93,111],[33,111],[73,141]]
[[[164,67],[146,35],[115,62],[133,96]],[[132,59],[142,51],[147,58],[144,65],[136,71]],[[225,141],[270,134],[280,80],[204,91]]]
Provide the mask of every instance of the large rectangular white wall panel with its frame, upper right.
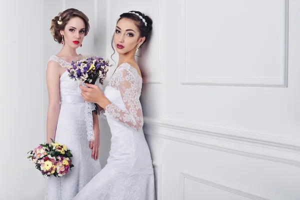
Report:
[[181,2],[182,84],[287,86],[288,0]]

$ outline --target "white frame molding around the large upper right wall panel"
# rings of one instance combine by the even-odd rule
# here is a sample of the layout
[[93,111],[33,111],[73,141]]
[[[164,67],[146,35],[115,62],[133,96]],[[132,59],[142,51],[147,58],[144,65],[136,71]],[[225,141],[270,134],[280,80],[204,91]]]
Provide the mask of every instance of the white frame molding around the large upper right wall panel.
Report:
[[186,85],[233,85],[233,86],[270,86],[270,87],[287,87],[287,70],[288,70],[288,3],[285,0],[285,62],[283,77],[186,77],[186,1],[182,0],[181,6],[181,24],[182,24],[182,66],[181,67],[181,84]]

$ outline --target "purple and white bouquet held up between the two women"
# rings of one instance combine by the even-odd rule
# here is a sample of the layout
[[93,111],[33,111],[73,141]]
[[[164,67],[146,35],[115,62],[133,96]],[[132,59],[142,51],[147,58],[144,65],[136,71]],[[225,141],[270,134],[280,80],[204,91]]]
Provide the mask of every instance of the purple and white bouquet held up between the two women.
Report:
[[[102,57],[89,56],[83,59],[73,60],[71,66],[67,68],[68,75],[73,80],[81,83],[95,84],[99,78],[99,83],[103,84],[106,73],[111,65],[109,60]],[[100,114],[99,109],[95,106],[95,114]]]

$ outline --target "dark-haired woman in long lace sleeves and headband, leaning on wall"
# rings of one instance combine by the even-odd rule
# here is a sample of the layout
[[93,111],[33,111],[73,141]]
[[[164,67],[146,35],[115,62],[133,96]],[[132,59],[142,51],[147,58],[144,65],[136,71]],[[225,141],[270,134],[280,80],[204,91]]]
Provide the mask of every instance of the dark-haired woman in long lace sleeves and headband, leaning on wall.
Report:
[[81,87],[82,97],[104,108],[111,130],[111,150],[105,167],[75,196],[75,200],[154,200],[154,174],[142,125],[142,86],[134,54],[152,29],[152,20],[134,11],[116,24],[114,44],[118,66],[104,94],[94,85]]

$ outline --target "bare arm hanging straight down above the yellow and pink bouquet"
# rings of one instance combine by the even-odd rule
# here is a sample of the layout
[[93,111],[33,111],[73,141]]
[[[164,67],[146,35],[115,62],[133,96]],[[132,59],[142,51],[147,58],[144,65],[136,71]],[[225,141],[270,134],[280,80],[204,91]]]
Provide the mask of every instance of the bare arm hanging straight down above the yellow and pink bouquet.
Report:
[[50,60],[47,64],[46,82],[48,89],[48,112],[47,112],[47,142],[55,139],[56,125],[60,110],[59,104],[59,69],[61,66]]

